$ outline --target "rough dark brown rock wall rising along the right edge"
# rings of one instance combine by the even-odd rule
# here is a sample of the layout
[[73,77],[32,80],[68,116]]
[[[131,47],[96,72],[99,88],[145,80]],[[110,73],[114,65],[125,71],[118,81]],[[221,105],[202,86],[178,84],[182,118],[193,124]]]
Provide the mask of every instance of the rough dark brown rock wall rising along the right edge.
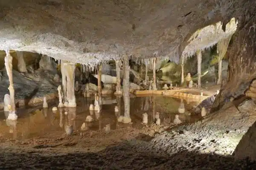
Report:
[[236,100],[245,96],[244,93],[250,83],[256,79],[255,10],[247,8],[247,11],[236,19],[238,28],[227,51],[229,62],[227,82],[221,85],[221,91],[212,105],[211,112],[222,108],[231,97]]

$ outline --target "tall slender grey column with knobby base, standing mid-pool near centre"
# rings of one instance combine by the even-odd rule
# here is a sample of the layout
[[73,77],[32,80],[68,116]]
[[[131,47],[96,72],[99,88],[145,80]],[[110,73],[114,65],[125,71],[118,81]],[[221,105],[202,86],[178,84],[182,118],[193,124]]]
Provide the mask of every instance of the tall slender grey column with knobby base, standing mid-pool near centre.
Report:
[[131,123],[130,117],[130,66],[128,56],[123,57],[124,79],[123,79],[123,97],[125,113],[123,123]]

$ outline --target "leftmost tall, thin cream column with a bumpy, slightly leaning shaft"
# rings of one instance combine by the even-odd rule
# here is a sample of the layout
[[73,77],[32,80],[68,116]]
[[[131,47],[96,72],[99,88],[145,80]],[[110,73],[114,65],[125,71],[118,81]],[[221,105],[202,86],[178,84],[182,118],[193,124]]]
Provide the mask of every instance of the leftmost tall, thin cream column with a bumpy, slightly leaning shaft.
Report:
[[9,51],[6,50],[6,57],[4,58],[4,65],[6,67],[7,75],[9,77],[9,92],[10,92],[10,101],[11,105],[9,105],[9,116],[7,119],[16,120],[16,108],[15,108],[15,91],[13,88],[13,79],[12,79],[12,56],[9,54]]

